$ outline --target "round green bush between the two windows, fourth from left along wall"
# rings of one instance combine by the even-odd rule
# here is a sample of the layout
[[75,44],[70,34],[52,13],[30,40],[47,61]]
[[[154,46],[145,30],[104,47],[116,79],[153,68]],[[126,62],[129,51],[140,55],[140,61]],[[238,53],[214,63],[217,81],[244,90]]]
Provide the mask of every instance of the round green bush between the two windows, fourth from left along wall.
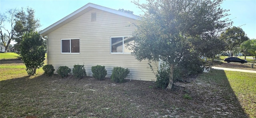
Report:
[[107,70],[105,66],[92,66],[92,76],[98,80],[103,80],[107,75]]

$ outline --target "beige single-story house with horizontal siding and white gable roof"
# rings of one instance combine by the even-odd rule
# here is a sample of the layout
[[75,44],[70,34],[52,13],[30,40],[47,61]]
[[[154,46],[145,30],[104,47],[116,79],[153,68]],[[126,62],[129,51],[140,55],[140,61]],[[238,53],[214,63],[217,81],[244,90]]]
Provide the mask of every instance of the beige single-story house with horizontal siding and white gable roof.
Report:
[[102,65],[107,70],[106,77],[110,77],[114,66],[121,66],[130,69],[127,79],[155,80],[148,61],[136,60],[132,51],[126,49],[136,29],[129,24],[138,18],[88,3],[39,32],[47,37],[47,63],[55,70],[59,66],[73,68],[74,64],[84,64],[88,76],[92,76],[92,66]]

